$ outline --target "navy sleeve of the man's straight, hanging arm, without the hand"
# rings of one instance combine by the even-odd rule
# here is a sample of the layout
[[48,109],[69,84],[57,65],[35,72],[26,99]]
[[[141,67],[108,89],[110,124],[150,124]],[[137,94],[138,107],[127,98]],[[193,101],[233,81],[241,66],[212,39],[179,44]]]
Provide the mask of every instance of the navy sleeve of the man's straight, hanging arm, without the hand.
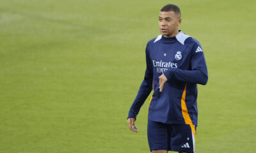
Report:
[[150,61],[150,55],[148,53],[148,45],[146,47],[146,62],[147,62],[147,68],[145,71],[145,77],[143,82],[140,85],[138,94],[132,103],[127,119],[129,118],[136,119],[136,116],[138,115],[141,106],[143,105],[144,101],[147,99],[148,95],[152,91],[153,72],[152,72],[152,63]]

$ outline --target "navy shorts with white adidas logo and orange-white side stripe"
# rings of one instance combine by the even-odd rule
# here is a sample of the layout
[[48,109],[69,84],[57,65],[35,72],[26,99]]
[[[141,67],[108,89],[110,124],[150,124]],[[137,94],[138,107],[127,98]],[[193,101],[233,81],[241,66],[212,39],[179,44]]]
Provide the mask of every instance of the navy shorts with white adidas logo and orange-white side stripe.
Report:
[[152,150],[195,152],[196,126],[164,124],[148,120],[148,145]]

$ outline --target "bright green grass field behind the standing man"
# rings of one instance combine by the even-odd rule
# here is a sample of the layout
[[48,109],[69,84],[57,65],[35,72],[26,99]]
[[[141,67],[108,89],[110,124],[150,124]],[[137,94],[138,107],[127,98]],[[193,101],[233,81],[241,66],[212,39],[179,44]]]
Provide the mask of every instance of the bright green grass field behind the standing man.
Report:
[[149,152],[149,98],[126,118],[168,3],[209,71],[196,152],[255,152],[255,1],[0,0],[0,153]]

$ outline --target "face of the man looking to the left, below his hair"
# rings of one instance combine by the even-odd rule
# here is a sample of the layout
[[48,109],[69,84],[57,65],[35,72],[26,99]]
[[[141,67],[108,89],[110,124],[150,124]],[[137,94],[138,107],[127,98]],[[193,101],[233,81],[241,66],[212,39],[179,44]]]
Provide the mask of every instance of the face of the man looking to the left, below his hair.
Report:
[[181,18],[176,15],[174,11],[160,11],[159,12],[159,29],[161,34],[166,38],[171,38],[179,33],[179,25]]

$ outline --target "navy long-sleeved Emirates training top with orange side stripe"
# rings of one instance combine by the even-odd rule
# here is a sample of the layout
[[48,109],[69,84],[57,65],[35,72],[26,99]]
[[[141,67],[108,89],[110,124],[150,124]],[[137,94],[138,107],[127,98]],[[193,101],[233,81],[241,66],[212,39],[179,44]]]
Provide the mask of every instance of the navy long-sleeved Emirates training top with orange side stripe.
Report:
[[[148,41],[147,68],[128,118],[135,118],[151,90],[148,120],[197,126],[197,85],[207,84],[208,74],[200,43],[182,31],[172,37],[159,35]],[[159,76],[168,79],[159,91]]]

